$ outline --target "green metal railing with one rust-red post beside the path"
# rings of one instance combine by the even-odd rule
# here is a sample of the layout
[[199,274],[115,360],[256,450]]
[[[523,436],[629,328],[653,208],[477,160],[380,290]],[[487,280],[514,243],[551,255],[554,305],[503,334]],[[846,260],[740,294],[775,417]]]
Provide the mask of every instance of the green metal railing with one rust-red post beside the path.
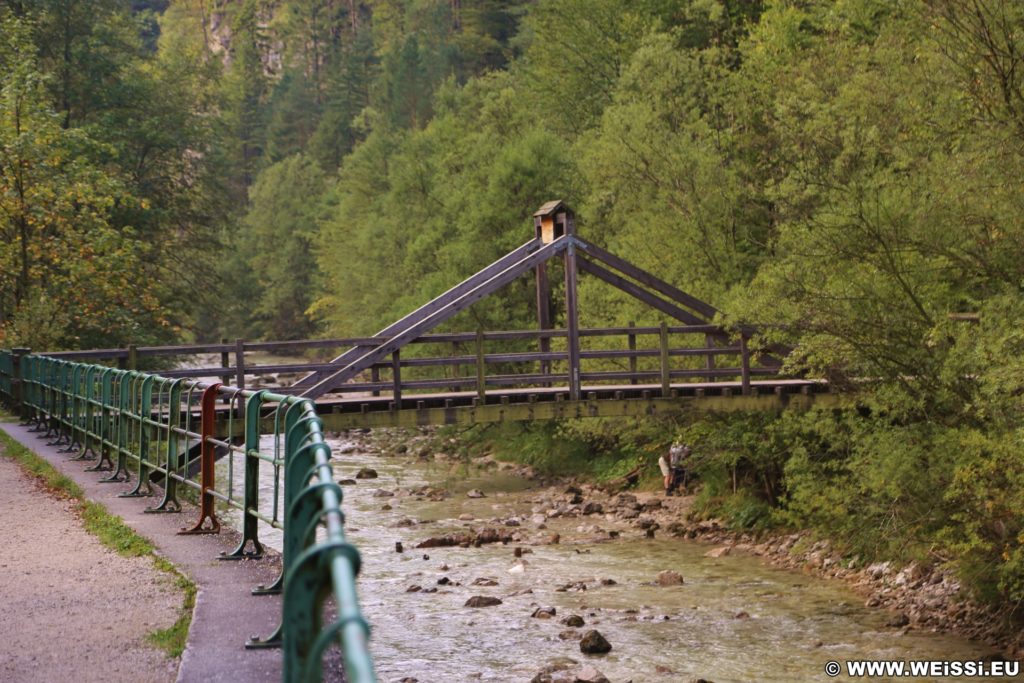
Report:
[[[359,554],[345,540],[343,493],[311,400],[27,349],[0,350],[0,398],[49,444],[95,461],[87,469],[104,473],[100,481],[128,482],[134,474],[121,496],[155,495],[151,481],[162,480],[160,500],[146,512],[178,512],[182,487],[196,492],[199,518],[183,533],[217,532],[218,506],[236,511],[242,541],[221,559],[261,556],[260,523],[282,529],[282,573],[253,591],[283,594],[281,626],[247,647],[282,647],[283,680],[292,682],[322,680],[324,655],[338,644],[350,683],[376,681],[355,590]],[[261,429],[268,424],[272,430]],[[220,481],[218,456],[226,458]],[[273,471],[269,511],[260,509],[261,465]]]

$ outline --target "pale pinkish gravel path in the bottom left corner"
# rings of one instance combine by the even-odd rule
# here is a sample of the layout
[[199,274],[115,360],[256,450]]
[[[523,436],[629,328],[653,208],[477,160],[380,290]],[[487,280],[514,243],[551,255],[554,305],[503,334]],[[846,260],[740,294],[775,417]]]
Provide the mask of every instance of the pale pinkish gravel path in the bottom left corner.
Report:
[[173,681],[178,663],[145,642],[182,596],[150,558],[86,532],[73,503],[0,457],[0,681]]

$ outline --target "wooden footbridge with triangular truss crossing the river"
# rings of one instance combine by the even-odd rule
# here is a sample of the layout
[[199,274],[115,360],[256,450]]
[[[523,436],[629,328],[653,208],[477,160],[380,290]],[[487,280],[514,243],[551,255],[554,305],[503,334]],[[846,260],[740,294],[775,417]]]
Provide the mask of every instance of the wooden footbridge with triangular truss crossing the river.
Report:
[[[561,202],[544,205],[534,219],[534,239],[373,337],[225,340],[47,355],[113,359],[135,369],[158,356],[180,360],[209,354],[216,359],[219,354],[219,364],[159,372],[168,378],[216,378],[239,388],[272,386],[276,393],[314,398],[325,426],[335,430],[778,410],[830,395],[823,381],[782,374],[778,356],[785,349],[753,349],[755,329],[721,327],[712,305],[580,238],[572,212]],[[551,265],[560,266],[564,279],[562,325],[557,328]],[[660,325],[582,329],[581,273],[646,304],[662,317]],[[537,329],[432,333],[516,279],[530,275]],[[312,349],[345,350],[318,364],[252,365],[246,357]],[[285,381],[289,376],[296,381]]]

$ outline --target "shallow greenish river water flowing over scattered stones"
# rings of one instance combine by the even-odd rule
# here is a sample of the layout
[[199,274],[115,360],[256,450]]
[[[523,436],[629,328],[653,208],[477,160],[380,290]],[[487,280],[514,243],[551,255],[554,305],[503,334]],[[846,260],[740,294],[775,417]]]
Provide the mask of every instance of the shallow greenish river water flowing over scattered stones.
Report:
[[[332,447],[351,451],[351,444],[338,440]],[[513,557],[513,544],[415,550],[429,537],[480,528],[484,521],[512,515],[532,530],[529,517],[539,492],[530,489],[530,481],[494,470],[358,452],[336,456],[334,467],[339,479],[361,467],[380,474],[344,486],[343,507],[348,537],[362,555],[359,597],[373,626],[381,681],[529,681],[559,657],[592,664],[615,683],[698,677],[717,683],[830,681],[837,679],[823,672],[828,660],[976,660],[988,652],[952,636],[904,635],[885,626],[889,613],[864,608],[863,599],[841,583],[768,567],[754,557],[709,558],[707,546],[635,532],[610,543],[573,542],[580,519],[548,520],[562,543],[529,547],[532,552],[522,560]],[[220,468],[218,476],[223,476],[226,464]],[[241,472],[238,463],[234,468]],[[264,510],[272,500],[271,469],[262,467]],[[374,496],[379,489],[420,484],[443,485],[454,495],[441,502]],[[486,497],[467,498],[470,488]],[[392,509],[382,510],[385,504]],[[463,514],[475,521],[460,521]],[[419,523],[399,526],[407,518]],[[600,518],[593,521],[607,525]],[[280,535],[261,533],[264,543],[280,549]],[[396,542],[404,552],[395,551]],[[685,584],[653,586],[663,569],[680,572]],[[439,585],[442,579],[451,584]],[[498,585],[471,586],[478,579]],[[601,585],[607,579],[614,584]],[[586,582],[587,590],[557,590],[574,582]],[[414,585],[437,590],[407,592]],[[475,595],[498,597],[503,604],[465,607]],[[555,607],[557,616],[531,618],[538,606]],[[737,617],[740,611],[749,617]],[[578,639],[560,639],[567,629],[560,621],[569,614],[586,621],[580,633],[599,630],[612,650],[585,655]]]

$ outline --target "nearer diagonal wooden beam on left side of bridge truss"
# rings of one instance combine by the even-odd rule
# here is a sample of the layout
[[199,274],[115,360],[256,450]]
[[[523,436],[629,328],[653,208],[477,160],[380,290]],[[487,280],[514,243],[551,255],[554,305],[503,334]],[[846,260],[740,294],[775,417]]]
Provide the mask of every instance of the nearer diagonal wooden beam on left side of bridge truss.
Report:
[[[385,358],[394,351],[400,349],[417,337],[462,312],[472,304],[487,295],[493,294],[502,287],[505,287],[519,275],[532,269],[538,263],[543,263],[551,257],[563,252],[570,244],[571,239],[572,238],[569,236],[559,238],[551,244],[545,245],[537,251],[522,256],[514,263],[505,263],[505,267],[498,272],[494,272],[493,269],[493,266],[497,265],[497,262],[492,264],[492,266],[485,268],[485,270],[490,272],[490,275],[482,282],[477,280],[475,287],[463,291],[458,296],[444,294],[437,299],[434,299],[430,302],[430,304],[428,304],[432,312],[426,315],[418,315],[416,316],[416,319],[404,326],[400,331],[393,331],[391,333],[391,338],[383,344],[376,346],[369,351],[365,348],[359,349],[361,351],[359,355],[352,358],[343,368],[339,368],[337,372],[329,374],[312,386],[305,388],[299,395],[307,398],[315,398],[316,396],[331,391],[335,387],[341,386],[361,373],[364,370],[367,370],[374,364],[379,362],[382,358]],[[505,259],[503,259],[503,261]],[[427,306],[424,306],[423,308],[427,308]],[[421,310],[423,308],[421,308]],[[391,326],[389,329],[393,329],[394,327],[395,326]]]

